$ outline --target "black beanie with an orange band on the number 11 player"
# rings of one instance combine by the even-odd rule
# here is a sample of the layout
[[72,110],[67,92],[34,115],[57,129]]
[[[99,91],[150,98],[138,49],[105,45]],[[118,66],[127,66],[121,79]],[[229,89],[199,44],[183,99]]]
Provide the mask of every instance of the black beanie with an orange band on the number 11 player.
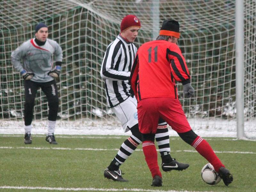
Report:
[[159,35],[180,38],[180,24],[176,20],[164,20]]

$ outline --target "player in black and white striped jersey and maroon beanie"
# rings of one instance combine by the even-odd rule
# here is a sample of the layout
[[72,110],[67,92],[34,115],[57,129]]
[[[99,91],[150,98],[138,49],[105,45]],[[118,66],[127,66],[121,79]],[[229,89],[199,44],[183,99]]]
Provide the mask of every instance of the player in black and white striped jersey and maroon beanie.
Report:
[[[108,107],[112,108],[121,121],[124,132],[132,135],[121,145],[115,158],[104,171],[104,176],[116,181],[127,181],[121,176],[119,166],[133,153],[141,143],[137,117],[137,101],[130,87],[130,71],[137,52],[132,43],[140,29],[140,21],[134,15],[127,15],[121,22],[121,33],[111,44],[103,58],[100,75],[105,79]],[[188,164],[182,164],[170,156],[169,133],[166,122],[159,120],[156,142],[162,157],[164,171],[183,170]]]

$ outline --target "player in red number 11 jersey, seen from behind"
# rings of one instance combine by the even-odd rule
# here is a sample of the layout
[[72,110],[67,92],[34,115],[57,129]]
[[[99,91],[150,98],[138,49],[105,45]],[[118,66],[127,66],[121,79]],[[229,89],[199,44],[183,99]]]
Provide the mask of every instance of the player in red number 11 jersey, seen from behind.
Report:
[[152,186],[162,186],[154,144],[159,118],[164,119],[182,140],[207,159],[228,186],[233,176],[209,143],[192,131],[178,99],[175,81],[182,83],[186,97],[194,94],[186,61],[176,44],[179,38],[179,22],[165,20],[157,39],[140,46],[132,66],[131,86],[138,100],[142,149],[153,177]]

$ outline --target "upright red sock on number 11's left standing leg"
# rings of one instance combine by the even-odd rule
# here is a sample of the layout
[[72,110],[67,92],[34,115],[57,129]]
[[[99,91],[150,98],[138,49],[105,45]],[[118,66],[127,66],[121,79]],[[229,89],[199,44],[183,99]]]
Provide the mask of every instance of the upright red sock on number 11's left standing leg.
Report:
[[142,149],[152,177],[154,178],[156,175],[162,177],[157,163],[157,152],[155,143],[153,143],[152,141],[143,141]]

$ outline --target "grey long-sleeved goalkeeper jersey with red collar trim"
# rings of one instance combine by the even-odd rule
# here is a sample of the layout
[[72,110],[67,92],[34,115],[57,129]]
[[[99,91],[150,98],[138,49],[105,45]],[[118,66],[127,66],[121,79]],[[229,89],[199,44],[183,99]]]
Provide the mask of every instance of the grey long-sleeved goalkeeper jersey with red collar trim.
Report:
[[55,61],[62,61],[62,50],[56,41],[46,39],[45,44],[39,46],[34,38],[24,42],[12,52],[11,62],[18,72],[25,69],[34,73],[31,81],[49,82],[54,79],[48,75],[53,69],[53,56]]

